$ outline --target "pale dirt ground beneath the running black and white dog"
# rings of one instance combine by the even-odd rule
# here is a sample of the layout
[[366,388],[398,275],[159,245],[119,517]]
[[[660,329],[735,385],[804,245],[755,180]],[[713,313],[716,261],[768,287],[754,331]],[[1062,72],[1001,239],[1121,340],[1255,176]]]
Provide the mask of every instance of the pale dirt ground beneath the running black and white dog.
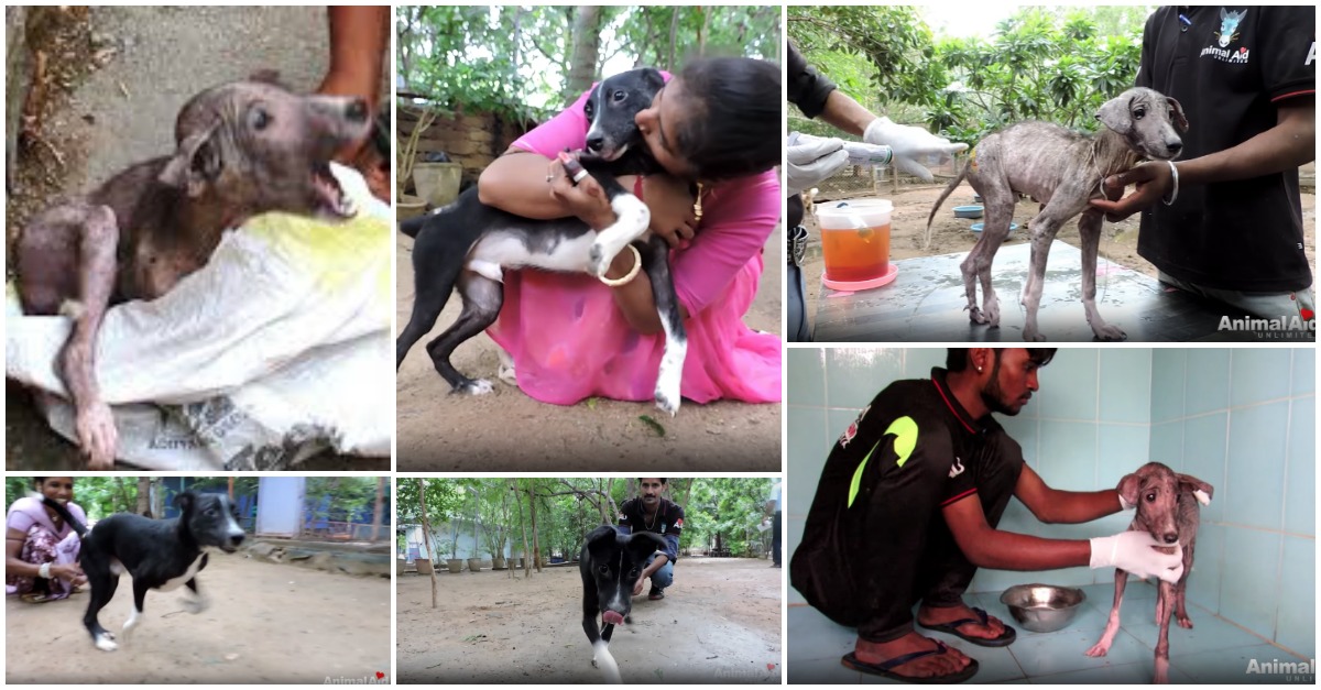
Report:
[[[115,599],[102,609],[100,623],[112,632],[132,611],[129,582],[123,576]],[[185,612],[184,588],[149,592],[144,620],[110,653],[95,649],[82,625],[89,594],[36,605],[5,597],[5,682],[390,681],[386,578],[266,563],[239,551],[213,555],[198,586],[211,597],[211,608],[197,616]]]

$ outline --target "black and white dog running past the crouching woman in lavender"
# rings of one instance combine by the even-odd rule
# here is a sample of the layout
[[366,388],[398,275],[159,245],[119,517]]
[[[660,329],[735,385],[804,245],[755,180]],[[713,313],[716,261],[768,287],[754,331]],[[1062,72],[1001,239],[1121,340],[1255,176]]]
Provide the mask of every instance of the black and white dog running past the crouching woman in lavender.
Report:
[[96,616],[115,596],[119,575],[133,579],[133,613],[124,623],[124,638],[141,623],[147,590],[168,592],[188,586],[193,597],[184,601],[190,613],[210,604],[197,588],[197,572],[206,567],[206,553],[219,549],[232,554],[243,543],[238,509],[229,496],[184,492],[174,498],[182,514],[170,519],[151,519],[133,513],[115,513],[89,530],[58,501],[44,500],[82,538],[78,560],[91,586],[91,600],[83,625],[98,649],[119,648],[114,633],[100,627]]

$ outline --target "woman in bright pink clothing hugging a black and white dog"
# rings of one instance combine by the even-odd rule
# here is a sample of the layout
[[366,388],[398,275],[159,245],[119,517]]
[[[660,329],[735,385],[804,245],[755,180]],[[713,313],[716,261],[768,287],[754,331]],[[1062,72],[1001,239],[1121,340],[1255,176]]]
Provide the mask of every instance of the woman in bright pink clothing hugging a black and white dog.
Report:
[[[781,338],[752,330],[742,317],[757,295],[762,249],[779,222],[773,168],[781,159],[781,69],[711,58],[667,79],[637,115],[667,174],[621,184],[639,193],[651,210],[651,231],[671,246],[688,334],[680,393],[699,403],[778,402]],[[590,178],[569,184],[555,160],[565,148],[585,147],[588,95],[486,168],[478,181],[485,204],[524,218],[576,215],[597,230],[613,222],[600,186]],[[633,252],[620,252],[605,278],[627,276],[633,262]],[[593,395],[650,401],[664,349],[645,276],[608,287],[590,275],[507,271],[503,309],[487,334],[513,358],[519,389],[557,404]]]

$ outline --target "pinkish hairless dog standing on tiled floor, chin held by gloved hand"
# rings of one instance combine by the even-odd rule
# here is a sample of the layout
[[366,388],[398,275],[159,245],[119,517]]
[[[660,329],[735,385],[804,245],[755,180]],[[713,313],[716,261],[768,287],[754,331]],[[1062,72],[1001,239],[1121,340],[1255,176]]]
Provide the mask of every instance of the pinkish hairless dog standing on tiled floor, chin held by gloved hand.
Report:
[[[1119,482],[1119,496],[1137,506],[1131,531],[1145,531],[1160,543],[1180,546],[1184,550],[1184,575],[1177,583],[1159,580],[1156,597],[1156,625],[1160,627],[1156,641],[1157,683],[1169,682],[1169,620],[1178,621],[1181,628],[1192,628],[1184,605],[1188,590],[1188,576],[1193,572],[1193,547],[1197,545],[1197,526],[1201,521],[1201,505],[1211,502],[1215,489],[1205,481],[1188,475],[1180,475],[1160,463],[1148,463]],[[1110,620],[1100,641],[1087,650],[1089,657],[1103,657],[1110,652],[1115,633],[1119,632],[1119,604],[1124,599],[1124,586],[1128,574],[1115,570],[1115,605],[1110,609]]]

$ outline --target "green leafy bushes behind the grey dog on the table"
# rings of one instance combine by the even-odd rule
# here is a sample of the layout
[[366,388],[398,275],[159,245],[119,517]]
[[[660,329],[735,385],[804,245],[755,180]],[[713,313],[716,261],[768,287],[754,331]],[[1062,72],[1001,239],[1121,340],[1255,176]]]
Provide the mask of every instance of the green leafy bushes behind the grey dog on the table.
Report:
[[[1100,104],[1136,78],[1149,8],[1022,8],[989,41],[934,40],[917,12],[790,7],[789,34],[808,63],[873,112],[975,143],[1025,119],[1094,130]],[[872,98],[852,91],[863,61],[878,90]]]

